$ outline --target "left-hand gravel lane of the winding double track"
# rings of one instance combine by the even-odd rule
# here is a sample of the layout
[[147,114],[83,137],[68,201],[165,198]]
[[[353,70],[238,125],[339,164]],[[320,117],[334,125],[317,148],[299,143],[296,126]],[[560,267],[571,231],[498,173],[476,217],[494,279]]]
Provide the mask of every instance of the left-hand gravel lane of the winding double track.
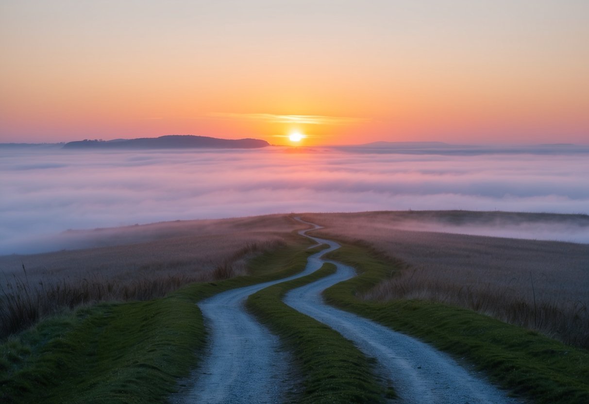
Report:
[[[300,230],[306,231],[319,229]],[[312,246],[315,247],[315,246]],[[312,248],[309,247],[309,248]],[[333,246],[333,249],[337,248]],[[309,256],[305,270],[272,282],[227,290],[198,302],[209,330],[210,346],[206,359],[196,370],[194,384],[170,398],[174,404],[252,404],[279,403],[292,388],[289,381],[289,356],[280,350],[277,336],[247,313],[250,294],[276,283],[308,275],[319,269],[320,256]]]

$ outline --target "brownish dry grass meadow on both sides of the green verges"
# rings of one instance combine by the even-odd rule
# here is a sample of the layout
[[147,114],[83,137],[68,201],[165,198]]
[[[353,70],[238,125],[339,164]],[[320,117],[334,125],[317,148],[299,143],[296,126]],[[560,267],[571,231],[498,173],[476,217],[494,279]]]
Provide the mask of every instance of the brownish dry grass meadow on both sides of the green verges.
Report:
[[[455,304],[589,346],[587,244],[444,232],[584,229],[586,215],[382,211],[305,218],[326,226],[320,235],[401,263],[404,270],[365,292],[365,299]],[[249,259],[284,246],[298,228],[287,215],[269,215],[70,231],[87,248],[0,257],[0,335],[62,309],[149,300],[185,284],[246,274]]]

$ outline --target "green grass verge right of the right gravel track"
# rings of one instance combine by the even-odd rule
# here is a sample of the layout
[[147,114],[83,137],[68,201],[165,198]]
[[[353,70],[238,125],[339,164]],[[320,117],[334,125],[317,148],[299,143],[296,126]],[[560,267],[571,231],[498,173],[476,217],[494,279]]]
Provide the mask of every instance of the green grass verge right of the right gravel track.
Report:
[[492,380],[538,403],[589,402],[589,352],[491,317],[421,300],[359,299],[395,264],[363,246],[342,244],[330,259],[355,267],[359,276],[324,292],[334,306],[419,337],[484,370]]

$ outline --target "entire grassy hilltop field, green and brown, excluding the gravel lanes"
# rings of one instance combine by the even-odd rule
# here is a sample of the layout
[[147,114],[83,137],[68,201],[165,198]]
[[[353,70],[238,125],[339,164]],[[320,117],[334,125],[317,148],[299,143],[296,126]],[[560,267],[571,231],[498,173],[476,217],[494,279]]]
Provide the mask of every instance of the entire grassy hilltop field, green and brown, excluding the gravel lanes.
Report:
[[[517,396],[567,404],[589,397],[589,245],[403,229],[504,221],[578,226],[585,216],[301,216],[326,226],[310,234],[339,241],[343,248],[328,257],[359,273],[325,290],[330,304],[445,350]],[[178,383],[190,383],[190,369],[207,357],[211,334],[195,303],[303,271],[317,250],[296,235],[303,227],[292,215],[158,223],[80,234],[88,247],[102,247],[0,257],[6,268],[2,322],[12,322],[5,328],[11,335],[0,343],[0,398],[162,402]],[[389,355],[360,352],[324,321],[282,300],[290,289],[333,272],[326,265],[297,280],[260,286],[245,306],[292,355],[296,380],[289,402],[388,402],[398,393],[398,378],[411,382],[411,372],[380,374],[375,364]],[[234,309],[244,310],[244,303]],[[227,336],[235,337],[243,335]]]

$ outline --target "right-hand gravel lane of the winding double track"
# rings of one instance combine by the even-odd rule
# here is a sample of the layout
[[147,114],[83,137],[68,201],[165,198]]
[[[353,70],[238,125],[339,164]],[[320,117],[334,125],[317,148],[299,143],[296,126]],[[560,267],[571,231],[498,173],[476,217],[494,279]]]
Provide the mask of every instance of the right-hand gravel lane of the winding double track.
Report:
[[[312,224],[297,220],[302,223]],[[396,403],[518,403],[505,392],[495,388],[482,377],[468,372],[452,357],[407,335],[395,332],[356,314],[328,306],[321,293],[327,287],[356,276],[349,266],[320,258],[327,251],[339,248],[335,241],[308,236],[316,243],[329,244],[329,250],[319,254],[319,263],[337,266],[335,274],[291,290],[284,303],[307,316],[325,323],[344,337],[352,340],[365,355],[378,360],[383,376],[391,379],[399,396]]]

